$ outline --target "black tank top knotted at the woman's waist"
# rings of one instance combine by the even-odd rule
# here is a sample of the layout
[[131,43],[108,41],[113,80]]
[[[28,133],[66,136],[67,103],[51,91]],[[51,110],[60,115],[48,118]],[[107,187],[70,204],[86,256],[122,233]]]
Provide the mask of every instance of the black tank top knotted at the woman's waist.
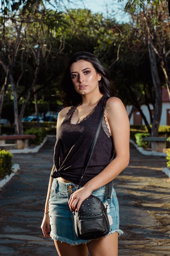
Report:
[[[57,131],[54,147],[55,170],[53,178],[63,177],[70,182],[79,184],[91,143],[95,137],[103,101],[102,96],[95,109],[79,124],[71,124],[71,117],[77,108],[72,106]],[[84,175],[82,185],[99,174],[110,162],[114,154],[112,137],[108,132],[103,117],[99,137]]]

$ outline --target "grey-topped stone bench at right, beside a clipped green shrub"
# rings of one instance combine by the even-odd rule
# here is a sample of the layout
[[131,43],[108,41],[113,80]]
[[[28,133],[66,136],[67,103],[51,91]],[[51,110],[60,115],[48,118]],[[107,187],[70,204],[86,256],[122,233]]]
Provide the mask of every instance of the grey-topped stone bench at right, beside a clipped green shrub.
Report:
[[146,137],[143,138],[143,141],[150,141],[153,151],[163,152],[163,148],[166,148],[167,139],[166,137]]

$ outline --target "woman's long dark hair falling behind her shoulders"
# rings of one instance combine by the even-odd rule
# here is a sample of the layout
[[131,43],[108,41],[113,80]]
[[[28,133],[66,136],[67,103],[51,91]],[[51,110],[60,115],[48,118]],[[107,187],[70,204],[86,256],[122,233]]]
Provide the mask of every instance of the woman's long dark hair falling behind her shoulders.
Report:
[[101,80],[99,81],[99,90],[100,93],[106,96],[113,96],[113,83],[111,82],[108,72],[104,68],[104,66],[101,64],[101,62],[98,60],[98,58],[88,52],[78,52],[75,53],[71,59],[68,62],[68,66],[66,69],[66,72],[64,74],[63,80],[62,80],[62,88],[64,92],[64,98],[65,98],[65,105],[76,105],[79,104],[82,100],[82,97],[77,91],[74,89],[73,83],[71,81],[70,76],[70,66],[73,62],[77,62],[79,60],[86,60],[90,62],[97,73],[100,73],[102,75]]

